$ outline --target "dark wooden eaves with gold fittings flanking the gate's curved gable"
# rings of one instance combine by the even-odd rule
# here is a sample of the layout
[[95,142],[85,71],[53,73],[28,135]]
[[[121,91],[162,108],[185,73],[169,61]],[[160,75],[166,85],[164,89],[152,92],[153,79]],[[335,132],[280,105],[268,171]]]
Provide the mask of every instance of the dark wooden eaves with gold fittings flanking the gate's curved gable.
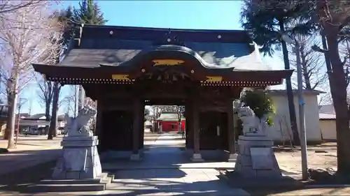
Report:
[[[134,84],[135,79],[130,79],[127,73],[109,73],[99,68],[66,68],[60,66],[34,65],[39,73],[45,75],[47,80],[61,82],[62,84]],[[243,87],[263,87],[269,85],[282,84],[283,78],[290,77],[293,70],[266,70],[266,71],[232,71],[225,75],[206,76],[207,80],[200,81],[200,86],[243,86]],[[152,75],[153,73],[144,73]],[[169,81],[184,77],[191,77],[188,73],[179,73],[180,77],[172,78]],[[165,72],[165,75],[167,73]],[[163,75],[163,77],[165,76]],[[179,76],[179,75],[178,75]],[[166,77],[165,77],[166,78]],[[168,78],[169,79],[169,78]]]

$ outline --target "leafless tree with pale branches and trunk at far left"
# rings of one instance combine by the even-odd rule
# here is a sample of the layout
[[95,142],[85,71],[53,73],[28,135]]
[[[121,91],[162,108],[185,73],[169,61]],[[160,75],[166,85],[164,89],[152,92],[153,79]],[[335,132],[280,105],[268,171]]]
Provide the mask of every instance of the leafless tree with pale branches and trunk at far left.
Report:
[[[1,1],[1,3],[5,1]],[[52,1],[40,1],[20,8],[28,1],[6,1],[0,5],[1,86],[8,98],[8,147],[13,147],[15,108],[18,93],[34,78],[31,63],[56,62],[62,45],[62,25],[50,17]],[[7,11],[4,11],[7,10]],[[10,10],[10,11],[8,11]]]

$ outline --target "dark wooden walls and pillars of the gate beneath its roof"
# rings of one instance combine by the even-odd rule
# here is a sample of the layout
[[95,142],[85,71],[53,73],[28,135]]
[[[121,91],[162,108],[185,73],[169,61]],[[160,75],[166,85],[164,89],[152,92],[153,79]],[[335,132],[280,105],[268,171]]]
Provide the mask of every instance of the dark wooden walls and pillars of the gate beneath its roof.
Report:
[[[193,83],[195,84],[195,83]],[[228,160],[235,153],[232,101],[230,98],[204,96],[200,99],[195,93],[176,91],[171,84],[158,84],[144,98],[112,97],[97,102],[97,135],[99,136],[99,153],[102,157],[130,158],[139,160],[145,149],[144,108],[146,105],[183,105],[186,128],[185,144],[181,147],[194,161],[203,159]],[[155,91],[160,91],[155,93]],[[186,90],[186,86],[182,89]],[[195,88],[193,88],[195,89]],[[136,89],[135,89],[136,90]],[[173,91],[171,91],[173,90]],[[198,91],[197,91],[198,92]],[[150,96],[147,96],[150,95]],[[209,94],[210,95],[210,94]],[[227,103],[227,104],[226,104]],[[231,105],[231,107],[230,107]],[[166,119],[165,119],[166,120]],[[178,123],[175,121],[169,123]],[[177,122],[176,122],[177,121]],[[160,123],[154,121],[156,132]],[[169,124],[168,124],[169,126]],[[230,131],[229,131],[230,130]],[[163,130],[167,131],[167,130]],[[176,135],[177,131],[173,131]],[[181,134],[178,139],[181,140]],[[230,147],[231,146],[231,147]]]

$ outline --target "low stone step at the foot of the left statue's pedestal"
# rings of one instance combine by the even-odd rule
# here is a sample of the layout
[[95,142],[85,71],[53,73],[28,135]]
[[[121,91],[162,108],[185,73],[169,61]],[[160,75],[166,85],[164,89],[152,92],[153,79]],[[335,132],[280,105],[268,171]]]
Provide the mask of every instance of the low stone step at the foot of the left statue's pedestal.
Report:
[[102,173],[97,179],[67,179],[67,180],[43,180],[41,183],[29,186],[29,191],[36,192],[83,192],[106,190],[114,179],[114,175]]

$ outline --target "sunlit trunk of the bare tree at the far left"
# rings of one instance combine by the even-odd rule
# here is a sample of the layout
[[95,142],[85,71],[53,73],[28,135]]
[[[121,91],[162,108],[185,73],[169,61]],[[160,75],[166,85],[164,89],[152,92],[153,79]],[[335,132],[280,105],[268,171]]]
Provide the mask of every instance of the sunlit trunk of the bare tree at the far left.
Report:
[[[6,133],[8,139],[8,149],[15,147],[15,109],[17,105],[17,77],[8,80],[8,119],[6,121]],[[20,115],[18,114],[18,118]]]

